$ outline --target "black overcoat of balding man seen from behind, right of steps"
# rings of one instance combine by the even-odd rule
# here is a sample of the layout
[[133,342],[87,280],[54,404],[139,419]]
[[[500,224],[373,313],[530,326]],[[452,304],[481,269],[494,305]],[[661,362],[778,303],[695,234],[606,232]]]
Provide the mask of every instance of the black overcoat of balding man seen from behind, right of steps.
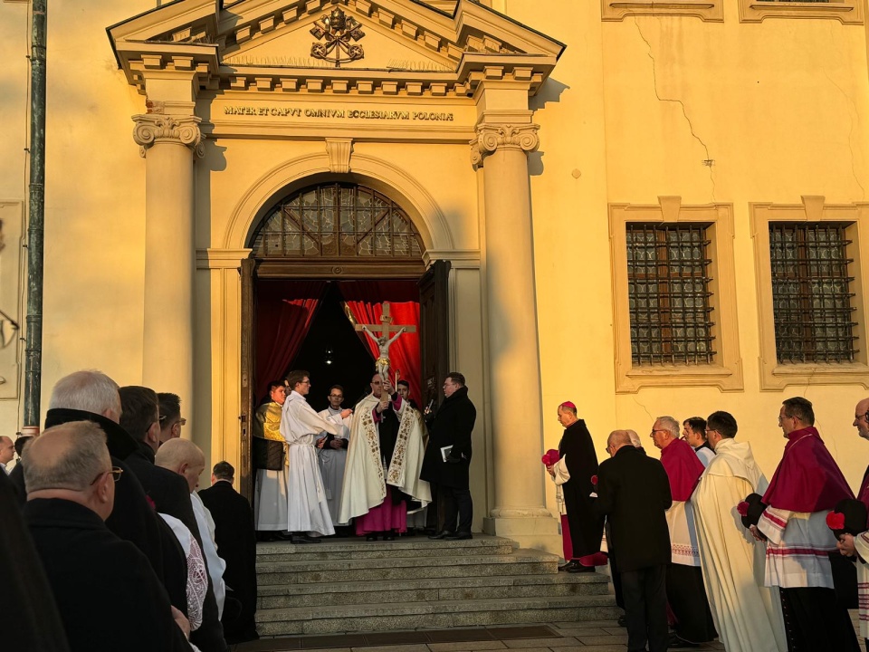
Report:
[[[673,504],[664,465],[634,446],[622,446],[597,470],[595,511],[606,516],[619,572],[671,559],[665,513]],[[572,532],[571,532],[572,534]]]

